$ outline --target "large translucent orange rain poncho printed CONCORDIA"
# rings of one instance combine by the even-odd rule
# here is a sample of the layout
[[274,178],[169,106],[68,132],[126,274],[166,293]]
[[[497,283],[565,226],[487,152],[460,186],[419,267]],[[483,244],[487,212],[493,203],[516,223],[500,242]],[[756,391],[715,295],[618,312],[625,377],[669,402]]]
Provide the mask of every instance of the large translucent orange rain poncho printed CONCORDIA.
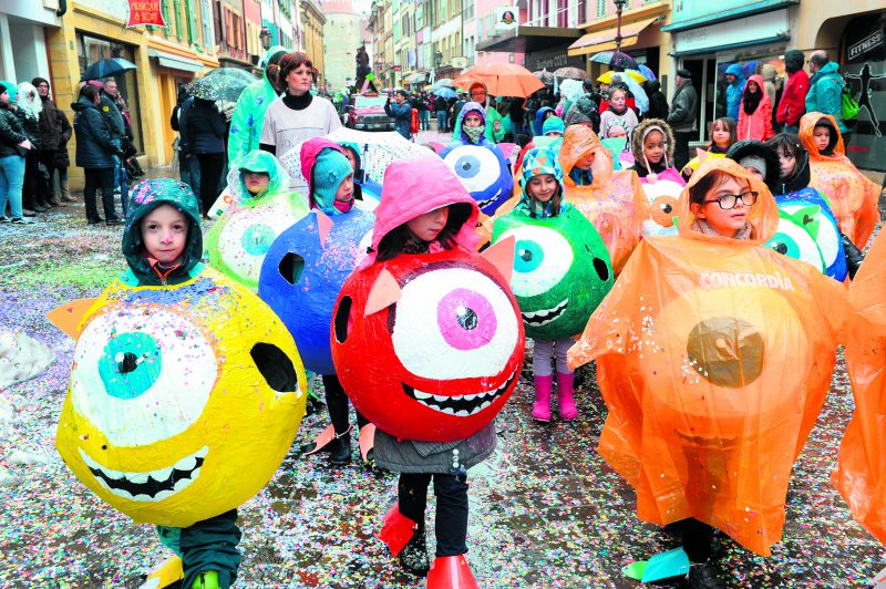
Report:
[[[749,240],[691,229],[689,188],[715,169],[760,193]],[[597,360],[598,452],[637,490],[640,519],[693,517],[769,556],[831,383],[845,289],[762,246],[775,200],[731,159],[703,163],[679,209],[680,235],[637,247],[569,366]]]

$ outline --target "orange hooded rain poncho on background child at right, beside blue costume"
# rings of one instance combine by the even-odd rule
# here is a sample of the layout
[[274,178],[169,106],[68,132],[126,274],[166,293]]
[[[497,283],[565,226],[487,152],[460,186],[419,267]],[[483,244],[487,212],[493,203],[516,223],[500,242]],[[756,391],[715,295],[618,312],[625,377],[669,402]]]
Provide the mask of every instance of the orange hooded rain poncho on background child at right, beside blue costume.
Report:
[[864,248],[879,218],[879,186],[867,179],[849,162],[842,136],[837,136],[834,155],[822,155],[818,152],[812,132],[821,118],[827,118],[833,128],[837,128],[836,121],[830,114],[806,113],[800,120],[800,141],[810,154],[810,186],[827,197],[839,230],[858,248]]

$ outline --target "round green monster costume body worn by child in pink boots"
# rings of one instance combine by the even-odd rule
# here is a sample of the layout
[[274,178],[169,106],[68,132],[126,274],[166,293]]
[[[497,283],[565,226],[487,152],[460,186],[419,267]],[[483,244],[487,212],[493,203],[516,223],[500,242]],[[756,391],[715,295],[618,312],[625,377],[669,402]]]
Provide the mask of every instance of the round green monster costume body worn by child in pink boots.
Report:
[[612,265],[600,235],[576,208],[533,219],[514,210],[495,221],[493,242],[514,237],[511,289],[526,335],[558,340],[579,333],[612,288]]

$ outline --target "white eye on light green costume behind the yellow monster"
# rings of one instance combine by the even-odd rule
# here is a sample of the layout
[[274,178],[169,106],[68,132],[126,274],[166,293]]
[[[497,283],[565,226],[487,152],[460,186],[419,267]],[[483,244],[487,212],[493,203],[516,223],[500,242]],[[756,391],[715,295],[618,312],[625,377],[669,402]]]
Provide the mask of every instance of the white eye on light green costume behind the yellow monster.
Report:
[[238,208],[218,236],[218,254],[230,271],[249,283],[258,282],[261,262],[270,245],[298,217],[281,215],[279,207]]

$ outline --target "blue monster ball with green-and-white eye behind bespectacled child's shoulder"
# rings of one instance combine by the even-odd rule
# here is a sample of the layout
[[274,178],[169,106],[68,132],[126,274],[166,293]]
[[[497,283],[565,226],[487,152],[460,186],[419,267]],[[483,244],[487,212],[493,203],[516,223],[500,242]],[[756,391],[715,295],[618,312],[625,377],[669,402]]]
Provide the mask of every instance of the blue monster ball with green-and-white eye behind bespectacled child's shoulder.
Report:
[[846,279],[846,255],[837,221],[822,194],[814,188],[775,196],[779,231],[766,247],[813,265],[831,278]]

